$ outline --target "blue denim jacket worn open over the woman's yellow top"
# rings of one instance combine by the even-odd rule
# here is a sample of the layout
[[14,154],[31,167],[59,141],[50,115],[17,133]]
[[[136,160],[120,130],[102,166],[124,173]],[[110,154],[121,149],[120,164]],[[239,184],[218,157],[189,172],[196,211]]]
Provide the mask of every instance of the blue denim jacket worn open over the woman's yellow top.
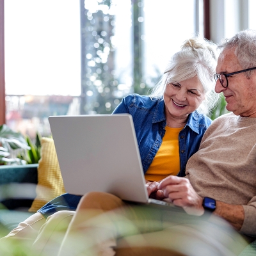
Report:
[[[165,133],[164,100],[163,98],[152,100],[148,96],[131,94],[125,97],[113,111],[113,114],[118,113],[132,115],[141,163],[146,173],[161,146]],[[211,122],[209,117],[198,111],[189,115],[187,124],[179,133],[180,172],[178,176],[185,175],[187,161],[198,150],[202,136]]]

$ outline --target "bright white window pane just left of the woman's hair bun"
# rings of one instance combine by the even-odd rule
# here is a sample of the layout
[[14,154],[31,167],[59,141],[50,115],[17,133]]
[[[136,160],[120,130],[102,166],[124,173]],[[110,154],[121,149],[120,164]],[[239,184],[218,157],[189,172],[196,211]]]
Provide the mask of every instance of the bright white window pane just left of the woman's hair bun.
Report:
[[143,58],[145,77],[150,78],[163,73],[172,54],[180,50],[182,42],[195,35],[195,2],[150,0],[144,5]]

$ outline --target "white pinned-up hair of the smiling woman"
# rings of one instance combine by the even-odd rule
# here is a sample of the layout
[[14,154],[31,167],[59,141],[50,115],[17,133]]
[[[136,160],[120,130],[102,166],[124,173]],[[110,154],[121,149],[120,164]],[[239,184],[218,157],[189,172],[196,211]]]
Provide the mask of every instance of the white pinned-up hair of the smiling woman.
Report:
[[204,88],[205,99],[198,110],[207,115],[216,106],[219,96],[214,92],[214,74],[217,65],[217,45],[209,40],[193,37],[184,42],[181,50],[173,54],[160,81],[152,88],[149,97],[163,97],[167,84],[198,77]]

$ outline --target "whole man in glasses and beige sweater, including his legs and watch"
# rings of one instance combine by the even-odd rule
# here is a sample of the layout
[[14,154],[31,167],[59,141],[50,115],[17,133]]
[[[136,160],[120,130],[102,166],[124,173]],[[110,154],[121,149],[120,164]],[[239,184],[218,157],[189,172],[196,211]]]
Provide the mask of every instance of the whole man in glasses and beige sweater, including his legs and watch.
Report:
[[[132,211],[132,214],[136,215],[136,220],[144,221],[142,224],[143,228],[141,228],[140,225],[135,226],[139,230],[137,230],[137,232],[143,234],[143,241],[147,241],[147,246],[156,247],[157,244],[163,244],[161,242],[164,241],[166,236],[169,237],[166,243],[172,244],[172,240],[175,239],[173,234],[176,232],[177,237],[180,237],[180,240],[185,244],[193,244],[195,237],[199,237],[200,235],[202,235],[202,237],[198,238],[196,241],[204,241],[204,244],[206,244],[207,239],[209,239],[211,240],[209,244],[216,243],[220,246],[220,241],[222,240],[223,248],[221,249],[222,251],[220,250],[222,254],[236,255],[244,246],[243,239],[237,236],[238,233],[248,241],[255,239],[256,31],[241,31],[230,38],[230,40],[220,45],[219,48],[222,51],[218,58],[216,75],[214,76],[216,79],[215,90],[217,93],[223,93],[227,101],[227,110],[231,111],[231,113],[220,116],[220,118],[214,120],[207,129],[198,152],[188,161],[186,177],[169,176],[160,183],[152,182],[152,184],[148,185],[149,193],[154,192],[157,199],[170,200],[174,205],[183,208],[189,215],[180,211],[178,215],[182,221],[177,221],[176,208],[175,210],[152,210],[150,207],[145,206],[143,210],[148,208],[150,212],[149,214],[147,212],[147,218],[150,216],[149,218],[152,218],[150,220],[158,224],[163,221],[161,228],[157,226],[158,230],[157,228],[154,230],[154,228],[149,227],[150,225],[147,221],[144,221],[145,216],[143,214],[145,211],[142,211],[143,214],[141,214],[141,211],[133,210],[134,207],[131,204],[124,203],[113,195],[89,193],[80,201],[77,213],[70,223],[66,237],[62,243],[60,255],[67,255],[67,252],[70,253],[70,251],[68,251],[68,246],[70,245],[68,242],[72,241],[72,236],[77,234],[79,228],[81,229],[82,223],[84,225],[84,228],[82,228],[83,232],[81,233],[83,241],[86,240],[85,237],[89,237],[88,230],[92,231],[93,228],[95,230],[95,225],[88,224],[92,219],[90,214],[86,214],[88,209],[109,212],[109,210],[118,208],[118,218],[125,216],[128,220],[131,220],[132,217],[125,213],[125,211],[130,213]],[[95,202],[97,203],[95,204]],[[125,210],[121,211],[120,209]],[[221,225],[216,224],[216,227],[218,226],[216,229],[212,228],[210,224],[202,225],[204,228],[200,230],[197,229],[198,227],[195,227],[195,225],[193,227],[193,225],[191,225],[193,221],[205,220],[205,212],[211,212],[209,223],[218,223],[218,221],[225,220],[232,225],[234,230],[237,230],[238,233],[228,230],[224,222],[221,222]],[[190,222],[186,222],[186,216],[191,215],[193,218],[189,220]],[[208,214],[206,215],[208,216]],[[156,221],[160,219],[161,221]],[[134,223],[134,219],[132,219],[132,223]],[[116,226],[118,225],[115,225],[115,227]],[[177,227],[183,227],[181,233],[180,229]],[[221,229],[221,227],[223,227],[223,229]],[[99,229],[99,227],[97,228]],[[113,236],[111,235],[109,237],[122,236],[122,231],[118,228],[119,227],[116,227],[115,232],[112,230]],[[207,232],[208,228],[212,232]],[[191,229],[193,232],[191,232]],[[209,236],[209,233],[214,232],[215,234],[212,235],[212,237]],[[131,244],[132,246],[136,246],[136,243],[140,241],[140,237],[135,237],[136,239],[133,240],[129,238],[130,247]],[[159,239],[159,237],[161,238]],[[170,239],[170,237],[172,237],[172,239]],[[208,238],[205,239],[205,237]],[[231,237],[230,240],[227,237]],[[90,238],[92,241],[92,237]],[[99,238],[99,233],[97,233],[97,238]],[[234,242],[232,239],[236,241]],[[112,243],[112,246],[116,246],[116,244],[118,248],[122,247],[120,243],[118,244],[116,241]],[[175,248],[175,250],[181,253],[188,253],[184,248],[180,247],[180,244],[177,244],[179,243],[176,241],[170,248]],[[215,250],[212,249],[212,247],[214,247],[212,244],[210,246],[211,249],[206,246],[206,248],[209,249],[207,252]],[[228,249],[228,252],[225,251],[235,244],[237,245],[235,250]],[[199,252],[198,248],[200,248],[199,244],[196,248],[193,248],[191,255],[204,255],[204,253]],[[84,249],[79,249],[79,252],[81,252],[81,250],[83,251]],[[115,253],[110,246],[108,249],[102,249],[101,246],[95,250],[95,252],[104,251],[106,255],[113,255]],[[122,253],[118,250],[117,254],[121,255]],[[214,253],[221,255],[220,251],[214,251]],[[129,253],[131,253],[131,251],[128,250],[126,255],[129,255]],[[134,253],[134,251],[132,251],[132,253]],[[214,253],[212,255],[214,255]],[[76,253],[74,253],[74,255],[76,255]],[[207,255],[211,255],[211,253]]]

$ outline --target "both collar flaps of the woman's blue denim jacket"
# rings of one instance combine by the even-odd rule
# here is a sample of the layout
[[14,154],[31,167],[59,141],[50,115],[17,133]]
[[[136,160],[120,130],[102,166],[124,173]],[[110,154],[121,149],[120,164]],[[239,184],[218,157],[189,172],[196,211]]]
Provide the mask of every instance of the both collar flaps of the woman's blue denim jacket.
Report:
[[[188,126],[192,131],[199,134],[199,113],[198,111],[194,111],[188,116],[188,122],[184,126],[184,129]],[[164,115],[164,100],[163,97],[157,99],[156,110],[154,112],[154,116],[152,118],[152,124],[166,121]]]

